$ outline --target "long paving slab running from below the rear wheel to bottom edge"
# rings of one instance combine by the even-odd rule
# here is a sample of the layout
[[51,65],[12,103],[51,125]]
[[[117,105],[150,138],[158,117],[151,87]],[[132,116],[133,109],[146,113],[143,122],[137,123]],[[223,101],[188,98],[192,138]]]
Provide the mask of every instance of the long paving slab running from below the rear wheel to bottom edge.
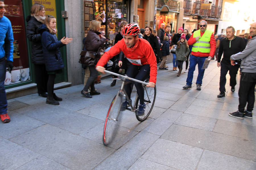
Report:
[[158,138],[158,135],[142,131],[102,161],[94,170],[129,169]]

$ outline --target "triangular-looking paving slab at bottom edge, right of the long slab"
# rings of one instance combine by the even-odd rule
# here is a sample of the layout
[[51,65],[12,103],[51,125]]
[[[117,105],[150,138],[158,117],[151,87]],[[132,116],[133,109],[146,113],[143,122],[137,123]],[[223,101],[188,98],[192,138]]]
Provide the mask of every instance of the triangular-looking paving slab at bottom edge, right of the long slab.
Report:
[[166,165],[162,165],[160,163],[152,162],[146,159],[138,159],[130,168],[129,170],[177,170],[176,168],[172,168]]

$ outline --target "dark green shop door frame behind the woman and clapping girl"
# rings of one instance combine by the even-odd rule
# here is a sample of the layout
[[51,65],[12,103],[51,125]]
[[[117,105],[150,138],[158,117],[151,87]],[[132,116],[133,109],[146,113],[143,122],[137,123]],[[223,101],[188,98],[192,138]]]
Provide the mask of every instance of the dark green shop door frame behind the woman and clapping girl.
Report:
[[[55,4],[57,7],[56,8],[56,15],[57,15],[56,19],[57,19],[57,28],[58,28],[58,39],[60,40],[66,34],[65,19],[61,18],[61,11],[65,10],[64,0],[55,0]],[[29,1],[22,0],[22,7],[23,7],[23,13],[24,13],[25,27],[26,27],[26,25],[27,25],[26,17],[28,15],[30,15],[30,8],[32,7],[32,1],[31,0],[29,0]],[[26,42],[27,42],[27,49],[28,49],[28,62],[29,62],[31,80],[26,81],[26,82],[20,82],[20,83],[16,83],[16,84],[7,85],[7,86],[5,86],[5,89],[35,83],[35,73],[33,72],[34,64],[32,64],[31,57],[30,57],[31,56],[31,42],[28,41],[28,39],[26,39]],[[63,81],[67,82],[67,80],[68,80],[68,78],[67,78],[67,48],[66,48],[66,46],[63,46],[62,48],[60,48],[60,51],[61,51],[62,59],[64,62],[64,69],[63,69],[62,76],[56,76],[55,83],[63,82]]]

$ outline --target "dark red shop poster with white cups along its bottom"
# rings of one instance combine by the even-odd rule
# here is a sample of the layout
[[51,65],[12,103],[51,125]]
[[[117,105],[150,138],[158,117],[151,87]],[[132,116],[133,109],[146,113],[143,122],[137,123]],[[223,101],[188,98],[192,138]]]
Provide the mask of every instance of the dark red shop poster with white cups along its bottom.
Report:
[[5,85],[30,80],[26,28],[21,0],[5,0],[5,14],[13,29],[13,71],[6,72]]

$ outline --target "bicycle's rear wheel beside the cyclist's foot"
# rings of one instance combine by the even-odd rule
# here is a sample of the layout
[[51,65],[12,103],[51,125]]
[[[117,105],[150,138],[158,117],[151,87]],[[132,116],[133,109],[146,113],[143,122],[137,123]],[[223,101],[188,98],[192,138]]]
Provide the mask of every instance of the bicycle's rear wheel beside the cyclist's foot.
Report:
[[[149,116],[149,114],[151,113],[154,107],[154,103],[156,100],[156,86],[152,88],[152,87],[146,87],[146,85],[143,85],[143,88],[144,88],[144,104],[146,105],[146,107],[145,107],[145,114],[143,116],[136,115],[137,120],[139,120],[140,122],[143,122]],[[137,109],[139,104],[138,94],[135,97],[134,103],[135,103],[135,109]]]

